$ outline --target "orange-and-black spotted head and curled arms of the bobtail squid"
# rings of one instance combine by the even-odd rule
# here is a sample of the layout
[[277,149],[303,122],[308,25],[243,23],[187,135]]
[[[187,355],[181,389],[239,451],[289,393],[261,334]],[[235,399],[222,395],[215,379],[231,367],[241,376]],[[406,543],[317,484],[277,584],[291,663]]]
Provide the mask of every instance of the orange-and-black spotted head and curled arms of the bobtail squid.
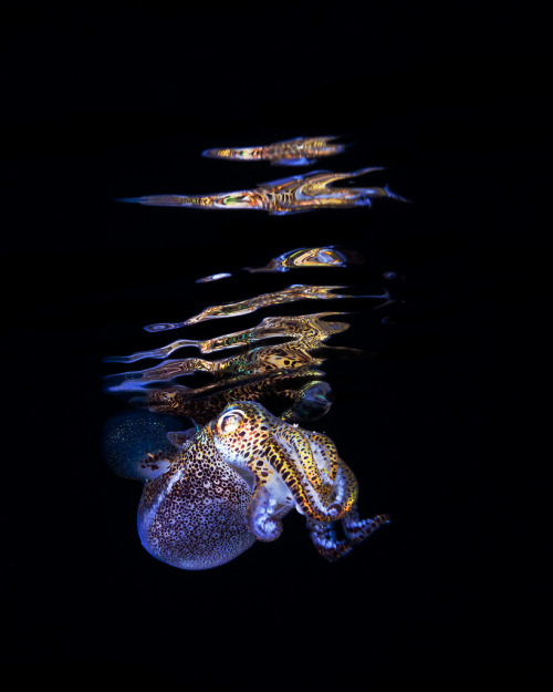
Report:
[[[260,540],[280,536],[280,516],[291,506],[305,515],[313,543],[327,559],[336,559],[388,523],[387,515],[358,519],[357,481],[330,437],[284,423],[248,401],[229,404],[210,428],[221,456],[255,478],[247,523]],[[343,540],[333,527],[338,519]]]

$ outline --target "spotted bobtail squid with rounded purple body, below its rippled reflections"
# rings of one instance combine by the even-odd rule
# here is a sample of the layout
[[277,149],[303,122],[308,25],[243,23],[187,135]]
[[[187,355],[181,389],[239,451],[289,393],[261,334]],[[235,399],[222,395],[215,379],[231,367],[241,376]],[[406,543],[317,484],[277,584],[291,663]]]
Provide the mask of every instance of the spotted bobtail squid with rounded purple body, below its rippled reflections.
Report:
[[359,518],[356,478],[330,437],[257,402],[230,403],[194,435],[175,440],[178,453],[146,481],[138,507],[144,547],[175,567],[217,567],[255,539],[274,540],[293,508],[330,561],[389,521],[388,515]]

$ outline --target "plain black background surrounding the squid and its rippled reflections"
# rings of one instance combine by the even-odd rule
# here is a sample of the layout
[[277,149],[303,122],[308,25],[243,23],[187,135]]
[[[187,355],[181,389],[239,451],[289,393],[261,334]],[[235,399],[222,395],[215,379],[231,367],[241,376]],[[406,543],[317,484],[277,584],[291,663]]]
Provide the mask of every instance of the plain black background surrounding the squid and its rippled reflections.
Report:
[[[7,8],[7,663],[188,689],[543,681],[544,18],[477,2]],[[385,166],[367,182],[413,204],[280,218],[114,202],[283,177],[200,153],[307,134],[356,143],[320,167]],[[327,242],[366,267],[240,270]],[[234,276],[195,283],[216,271]],[[140,487],[101,458],[121,410],[101,359],[165,342],[144,324],[345,276],[397,302],[390,323],[352,316],[336,344],[374,358],[328,362],[335,404],[316,427],[355,471],[363,514],[392,525],[335,565],[295,515],[215,570],[150,558]]]

